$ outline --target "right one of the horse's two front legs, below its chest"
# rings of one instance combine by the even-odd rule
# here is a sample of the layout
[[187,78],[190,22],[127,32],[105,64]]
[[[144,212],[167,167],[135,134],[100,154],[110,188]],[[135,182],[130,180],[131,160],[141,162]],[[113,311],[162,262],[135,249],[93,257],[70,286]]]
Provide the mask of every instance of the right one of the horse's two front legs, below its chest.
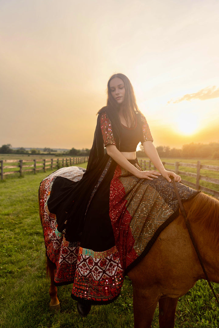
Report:
[[160,328],[174,328],[177,302],[178,298],[161,297],[159,299]]

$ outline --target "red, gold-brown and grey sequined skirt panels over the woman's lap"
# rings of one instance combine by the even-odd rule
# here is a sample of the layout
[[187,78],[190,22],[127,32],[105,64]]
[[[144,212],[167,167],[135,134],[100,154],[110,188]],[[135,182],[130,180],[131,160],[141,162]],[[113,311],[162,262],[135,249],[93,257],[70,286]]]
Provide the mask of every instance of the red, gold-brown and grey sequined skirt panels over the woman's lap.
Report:
[[[138,164],[135,166],[140,169]],[[198,193],[182,183],[176,185],[182,201]],[[147,254],[151,238],[156,240],[156,232],[176,217],[178,209],[173,184],[163,176],[139,179],[116,167],[110,187],[110,218],[126,272],[140,255]]]

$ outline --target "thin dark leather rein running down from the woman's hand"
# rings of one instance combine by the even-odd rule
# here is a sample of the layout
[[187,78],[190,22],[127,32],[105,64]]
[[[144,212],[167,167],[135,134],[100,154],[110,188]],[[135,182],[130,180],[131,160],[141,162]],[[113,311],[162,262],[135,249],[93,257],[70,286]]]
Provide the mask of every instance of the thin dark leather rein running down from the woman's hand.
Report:
[[199,259],[199,262],[200,262],[200,264],[201,264],[202,270],[203,270],[203,272],[204,272],[204,274],[205,274],[206,280],[208,281],[208,285],[210,286],[210,288],[211,288],[211,290],[212,290],[212,293],[213,293],[213,295],[214,295],[214,297],[215,297],[215,299],[216,299],[216,301],[217,301],[217,303],[218,303],[218,305],[219,305],[218,298],[217,298],[217,296],[216,296],[216,294],[215,294],[215,292],[214,292],[214,290],[213,290],[213,287],[212,287],[212,285],[211,285],[211,282],[210,282],[210,280],[209,280],[209,278],[208,278],[208,274],[207,274],[207,272],[206,272],[206,270],[205,270],[205,267],[204,267],[204,264],[203,264],[203,261],[202,261],[201,255],[200,255],[200,253],[199,253],[199,250],[198,250],[197,245],[196,245],[196,243],[195,243],[194,237],[193,237],[193,235],[192,235],[191,225],[190,225],[190,222],[189,222],[189,220],[188,220],[188,218],[187,218],[187,215],[186,215],[185,209],[184,209],[184,207],[183,207],[182,201],[181,201],[181,199],[180,199],[180,196],[179,196],[179,193],[178,193],[178,190],[177,190],[177,187],[176,187],[176,182],[175,182],[174,178],[172,179],[172,183],[173,183],[173,186],[174,186],[174,189],[175,189],[175,193],[176,193],[176,196],[177,196],[177,199],[178,199],[178,202],[179,202],[179,205],[180,205],[180,208],[181,208],[181,211],[182,211],[183,217],[184,217],[185,222],[186,222],[186,227],[187,227],[187,229],[188,229],[188,233],[189,233],[190,239],[191,239],[191,241],[192,241],[192,244],[193,244],[194,249],[195,249],[195,251],[196,251],[196,254],[197,254],[197,256],[198,256],[198,259]]

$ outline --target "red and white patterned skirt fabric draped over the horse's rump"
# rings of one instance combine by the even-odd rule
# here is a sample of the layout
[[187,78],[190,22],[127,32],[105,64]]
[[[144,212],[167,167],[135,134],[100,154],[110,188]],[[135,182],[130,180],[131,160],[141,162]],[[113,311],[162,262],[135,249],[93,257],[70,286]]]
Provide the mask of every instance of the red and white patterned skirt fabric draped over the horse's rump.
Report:
[[56,265],[56,284],[74,282],[80,243],[68,242],[65,240],[64,234],[57,231],[56,216],[49,212],[47,200],[57,176],[63,176],[72,181],[79,181],[84,171],[84,169],[79,167],[61,168],[46,177],[41,182],[39,188],[40,217],[44,233],[46,255]]

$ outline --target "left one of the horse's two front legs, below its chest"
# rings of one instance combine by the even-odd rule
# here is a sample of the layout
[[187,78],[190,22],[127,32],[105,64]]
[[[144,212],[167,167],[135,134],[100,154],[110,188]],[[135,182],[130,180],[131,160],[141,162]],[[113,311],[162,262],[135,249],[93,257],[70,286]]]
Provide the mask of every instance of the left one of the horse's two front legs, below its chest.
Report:
[[153,291],[133,286],[134,328],[150,328],[157,306],[158,297]]

